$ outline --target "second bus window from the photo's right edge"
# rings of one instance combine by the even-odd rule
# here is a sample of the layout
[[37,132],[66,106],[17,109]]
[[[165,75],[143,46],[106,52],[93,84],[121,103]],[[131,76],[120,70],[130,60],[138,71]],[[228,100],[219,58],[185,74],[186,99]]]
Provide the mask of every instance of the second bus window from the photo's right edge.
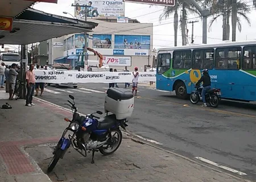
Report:
[[240,69],[241,47],[225,47],[216,49],[216,69]]

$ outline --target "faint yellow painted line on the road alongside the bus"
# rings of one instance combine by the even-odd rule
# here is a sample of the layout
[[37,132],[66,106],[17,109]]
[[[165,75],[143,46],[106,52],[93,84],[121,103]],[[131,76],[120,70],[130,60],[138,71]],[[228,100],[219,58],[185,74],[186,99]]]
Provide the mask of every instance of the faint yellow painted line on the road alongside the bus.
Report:
[[[168,104],[174,104],[174,105],[182,105],[185,107],[191,107],[189,105],[184,105],[184,104],[180,104],[180,103],[176,103],[176,102],[169,102],[169,101],[161,101],[161,100],[157,100],[154,98],[146,98],[146,97],[137,97],[140,99],[145,99],[145,100],[151,100],[151,101],[156,101],[156,102],[164,102],[164,103],[168,103]],[[232,114],[232,115],[239,115],[239,116],[244,116],[244,117],[250,117],[250,118],[256,118],[256,115],[250,115],[250,114],[242,114],[242,113],[234,113],[232,111],[224,111],[224,110],[218,110],[218,109],[206,109],[206,108],[199,108],[199,107],[191,107],[193,109],[200,109],[200,110],[206,110],[206,111],[210,111],[210,112],[214,112],[214,113],[223,113],[223,114]]]

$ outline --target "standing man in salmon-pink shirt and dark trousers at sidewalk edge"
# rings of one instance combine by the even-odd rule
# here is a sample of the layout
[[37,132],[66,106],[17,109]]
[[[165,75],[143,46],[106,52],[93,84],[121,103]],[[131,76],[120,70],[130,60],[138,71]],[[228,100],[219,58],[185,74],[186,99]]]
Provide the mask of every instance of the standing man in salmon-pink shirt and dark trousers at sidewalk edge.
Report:
[[33,72],[34,65],[30,65],[30,69],[26,72],[26,80],[27,80],[27,96],[26,96],[26,106],[34,106],[32,103],[33,94],[35,91],[35,73]]

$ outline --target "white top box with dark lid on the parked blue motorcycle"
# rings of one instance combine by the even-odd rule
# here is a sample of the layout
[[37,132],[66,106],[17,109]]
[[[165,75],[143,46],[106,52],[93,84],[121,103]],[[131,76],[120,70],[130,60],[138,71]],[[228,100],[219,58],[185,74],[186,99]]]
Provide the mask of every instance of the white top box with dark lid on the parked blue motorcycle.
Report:
[[105,113],[113,113],[117,119],[126,119],[133,113],[134,96],[126,89],[109,88],[104,107]]

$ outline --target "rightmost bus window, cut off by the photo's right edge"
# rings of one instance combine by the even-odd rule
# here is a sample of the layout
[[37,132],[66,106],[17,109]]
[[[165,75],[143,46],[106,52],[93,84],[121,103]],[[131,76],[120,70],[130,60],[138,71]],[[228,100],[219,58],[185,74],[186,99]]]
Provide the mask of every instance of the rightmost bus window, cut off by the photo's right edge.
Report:
[[256,69],[256,46],[243,47],[243,69]]

